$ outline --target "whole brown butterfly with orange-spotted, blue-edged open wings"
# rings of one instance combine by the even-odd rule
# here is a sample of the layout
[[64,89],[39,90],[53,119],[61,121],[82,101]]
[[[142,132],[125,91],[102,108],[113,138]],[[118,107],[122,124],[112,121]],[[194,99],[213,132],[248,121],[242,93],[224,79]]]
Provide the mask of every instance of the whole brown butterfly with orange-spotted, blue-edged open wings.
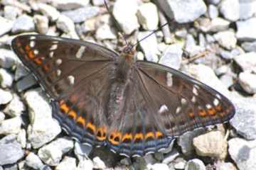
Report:
[[127,157],[169,147],[188,130],[225,123],[233,104],[206,84],[101,45],[19,35],[11,46],[50,96],[53,117],[76,140]]

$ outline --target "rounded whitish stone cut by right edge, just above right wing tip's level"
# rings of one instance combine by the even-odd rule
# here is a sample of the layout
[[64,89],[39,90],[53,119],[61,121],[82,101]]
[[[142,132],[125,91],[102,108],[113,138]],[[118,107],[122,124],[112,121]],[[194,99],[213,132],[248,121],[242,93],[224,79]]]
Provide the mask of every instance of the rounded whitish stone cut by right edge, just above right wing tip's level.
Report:
[[239,74],[239,84],[248,94],[256,93],[256,74],[250,72],[241,72]]

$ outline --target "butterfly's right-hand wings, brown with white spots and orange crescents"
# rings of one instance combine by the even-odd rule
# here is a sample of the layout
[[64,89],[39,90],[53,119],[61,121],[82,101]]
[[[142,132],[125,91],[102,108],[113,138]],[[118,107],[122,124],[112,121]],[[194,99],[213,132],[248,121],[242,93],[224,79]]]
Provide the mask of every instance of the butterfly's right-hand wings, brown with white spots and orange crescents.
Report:
[[135,67],[125,95],[128,108],[108,137],[115,152],[156,152],[183,132],[224,123],[235,113],[228,98],[186,74],[153,62]]

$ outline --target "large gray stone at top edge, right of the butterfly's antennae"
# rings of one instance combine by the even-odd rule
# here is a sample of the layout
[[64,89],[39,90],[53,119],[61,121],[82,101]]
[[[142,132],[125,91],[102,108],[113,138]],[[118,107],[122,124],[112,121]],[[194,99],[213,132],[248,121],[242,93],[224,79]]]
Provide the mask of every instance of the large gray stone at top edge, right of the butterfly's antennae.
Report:
[[166,6],[162,7],[167,15],[174,16],[175,21],[178,23],[193,22],[206,13],[207,10],[206,4],[201,0],[167,1]]

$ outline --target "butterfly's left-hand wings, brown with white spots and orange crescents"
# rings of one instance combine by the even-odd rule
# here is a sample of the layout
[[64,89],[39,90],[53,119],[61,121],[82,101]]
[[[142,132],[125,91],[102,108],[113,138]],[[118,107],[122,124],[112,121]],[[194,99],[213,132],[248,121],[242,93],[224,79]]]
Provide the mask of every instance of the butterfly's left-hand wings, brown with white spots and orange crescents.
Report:
[[14,52],[52,98],[53,117],[68,133],[101,145],[107,125],[103,113],[115,52],[100,45],[45,35],[21,35]]

